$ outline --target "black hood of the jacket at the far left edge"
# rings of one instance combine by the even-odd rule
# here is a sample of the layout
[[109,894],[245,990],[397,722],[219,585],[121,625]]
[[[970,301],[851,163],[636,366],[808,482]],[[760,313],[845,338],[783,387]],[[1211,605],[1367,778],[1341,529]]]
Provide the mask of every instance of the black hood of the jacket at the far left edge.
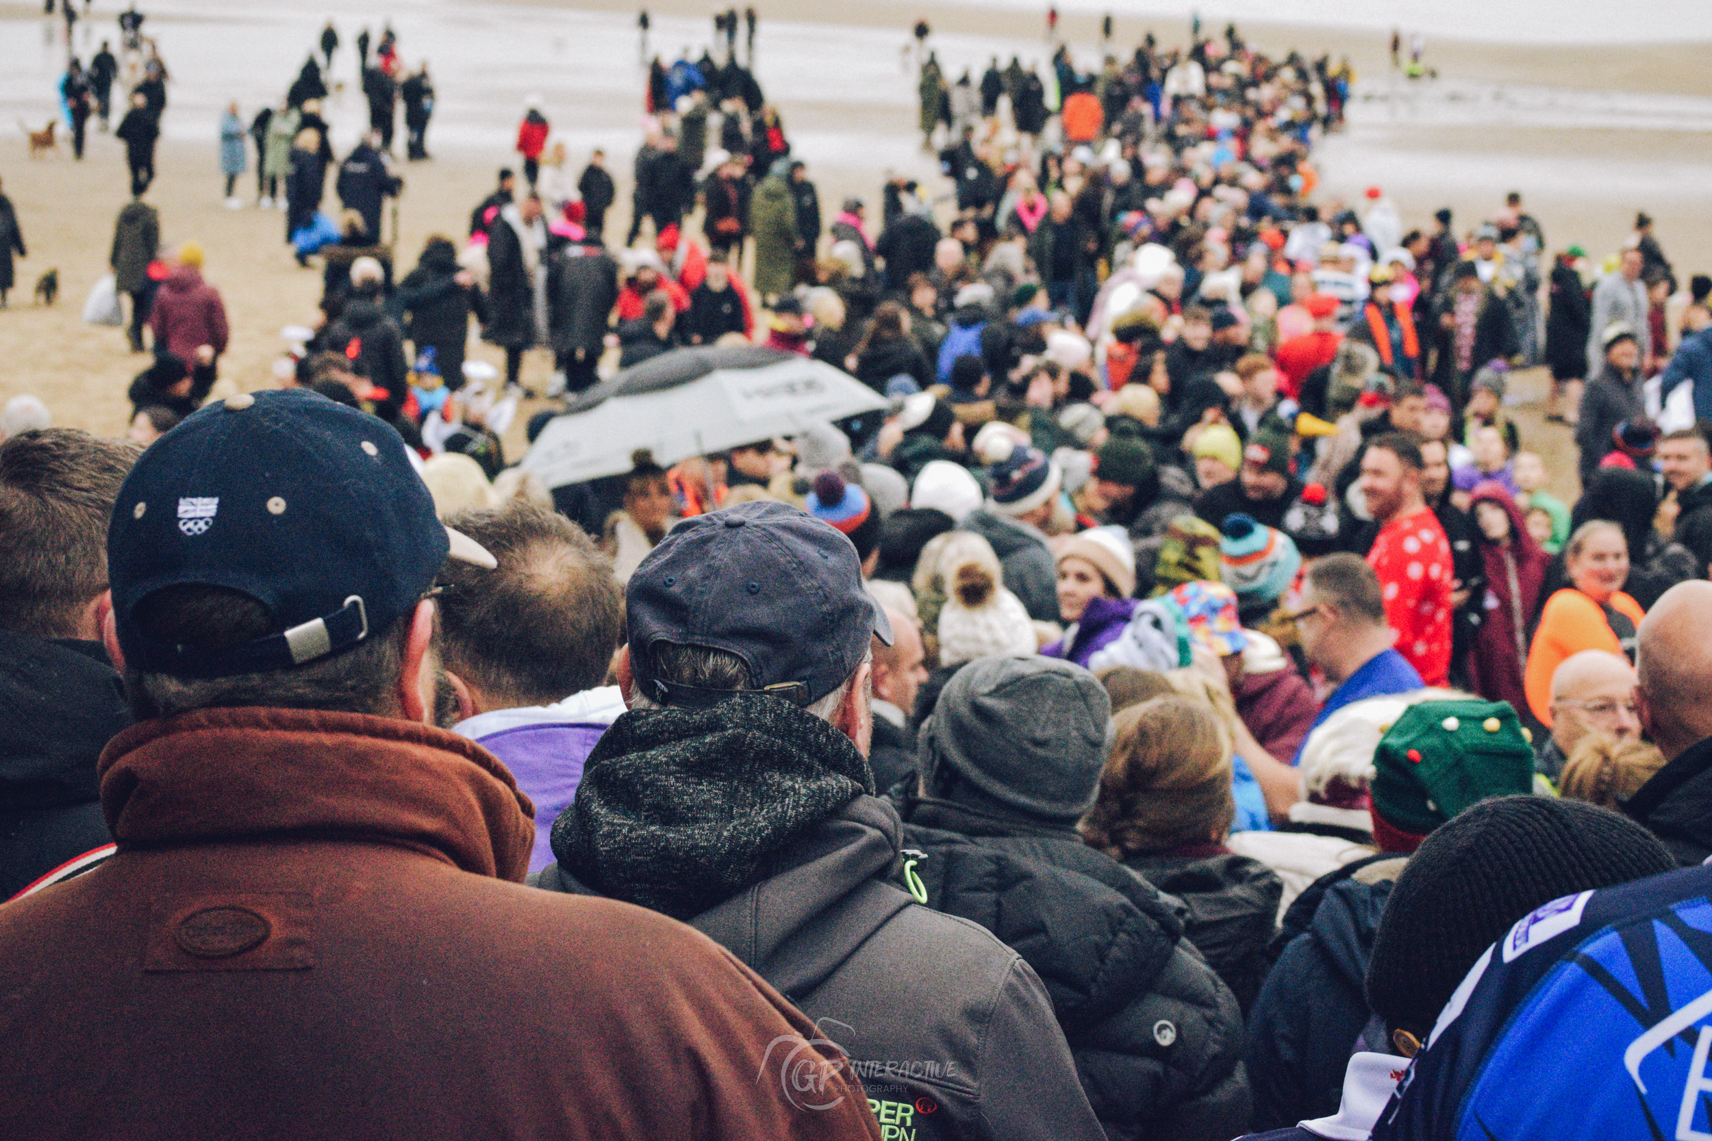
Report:
[[99,641],[0,631],[0,809],[94,804],[96,758],[130,725]]

